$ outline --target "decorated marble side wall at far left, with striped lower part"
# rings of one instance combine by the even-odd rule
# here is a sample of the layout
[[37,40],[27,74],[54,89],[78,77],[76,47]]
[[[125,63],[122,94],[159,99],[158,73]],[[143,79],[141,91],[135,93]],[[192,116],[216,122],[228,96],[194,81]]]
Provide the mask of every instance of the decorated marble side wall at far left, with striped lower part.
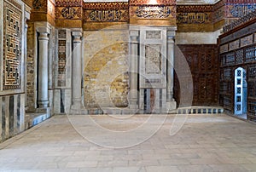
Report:
[[[1,0],[0,8],[0,141],[24,130],[24,62],[26,5]],[[29,15],[29,14],[28,14]]]

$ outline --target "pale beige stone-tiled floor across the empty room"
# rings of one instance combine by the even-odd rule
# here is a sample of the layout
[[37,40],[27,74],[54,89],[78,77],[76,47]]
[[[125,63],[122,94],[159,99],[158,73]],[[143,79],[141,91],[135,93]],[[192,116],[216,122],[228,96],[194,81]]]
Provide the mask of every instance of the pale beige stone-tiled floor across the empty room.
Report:
[[0,171],[256,171],[256,124],[224,114],[54,116],[0,144]]

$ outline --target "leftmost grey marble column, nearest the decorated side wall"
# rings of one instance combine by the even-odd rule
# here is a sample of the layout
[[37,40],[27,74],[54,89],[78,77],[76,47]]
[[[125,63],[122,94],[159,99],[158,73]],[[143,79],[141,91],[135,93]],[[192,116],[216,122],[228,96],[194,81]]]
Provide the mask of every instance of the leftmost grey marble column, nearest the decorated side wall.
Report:
[[49,28],[38,28],[39,52],[38,52],[38,106],[47,108],[48,99],[48,43]]

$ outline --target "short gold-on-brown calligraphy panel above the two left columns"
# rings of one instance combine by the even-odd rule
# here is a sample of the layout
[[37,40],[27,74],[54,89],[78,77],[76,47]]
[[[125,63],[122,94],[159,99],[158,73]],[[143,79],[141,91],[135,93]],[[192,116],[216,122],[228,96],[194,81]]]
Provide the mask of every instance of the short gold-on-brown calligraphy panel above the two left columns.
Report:
[[55,15],[56,19],[77,20],[82,18],[82,10],[81,7],[57,7]]

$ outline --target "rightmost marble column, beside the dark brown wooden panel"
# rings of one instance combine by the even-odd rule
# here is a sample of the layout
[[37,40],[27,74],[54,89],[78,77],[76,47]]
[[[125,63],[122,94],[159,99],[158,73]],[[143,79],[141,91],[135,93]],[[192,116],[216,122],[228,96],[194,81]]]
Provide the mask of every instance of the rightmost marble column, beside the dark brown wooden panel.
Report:
[[167,31],[167,109],[176,109],[176,101],[173,99],[173,78],[174,78],[174,34]]

